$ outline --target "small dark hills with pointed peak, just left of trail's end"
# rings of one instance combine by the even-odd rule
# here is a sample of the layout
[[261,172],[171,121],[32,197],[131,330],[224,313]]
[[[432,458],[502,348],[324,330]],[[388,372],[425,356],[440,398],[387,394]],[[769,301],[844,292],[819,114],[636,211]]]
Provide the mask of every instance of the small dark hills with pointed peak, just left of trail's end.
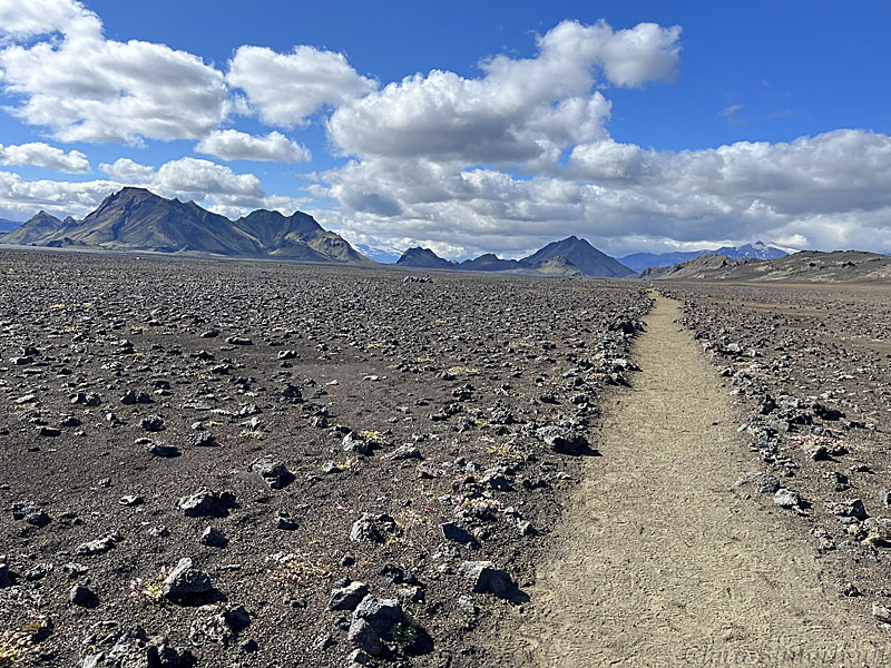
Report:
[[500,259],[491,253],[456,264],[439,257],[429,248],[409,248],[396,263],[423,269],[460,269],[464,272],[512,272],[531,275],[621,277],[634,274],[615,258],[601,253],[587,240],[570,236],[552,242],[522,259]]

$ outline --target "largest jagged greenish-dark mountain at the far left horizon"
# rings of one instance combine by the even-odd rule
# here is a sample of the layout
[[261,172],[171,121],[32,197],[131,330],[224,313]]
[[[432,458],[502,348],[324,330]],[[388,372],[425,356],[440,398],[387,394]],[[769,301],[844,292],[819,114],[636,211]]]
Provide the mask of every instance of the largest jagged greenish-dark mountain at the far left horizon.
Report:
[[283,216],[260,209],[233,222],[194,202],[166,199],[145,188],[124,188],[109,195],[81,222],[62,222],[41,212],[0,242],[375,264],[300,212]]

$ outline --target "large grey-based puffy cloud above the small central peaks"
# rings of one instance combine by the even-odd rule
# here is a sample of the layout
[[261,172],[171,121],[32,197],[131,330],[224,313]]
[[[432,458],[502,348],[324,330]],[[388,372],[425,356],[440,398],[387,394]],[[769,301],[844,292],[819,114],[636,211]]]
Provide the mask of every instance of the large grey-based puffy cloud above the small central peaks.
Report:
[[610,104],[591,90],[598,68],[618,86],[669,79],[679,33],[652,23],[614,31],[603,21],[565,21],[538,38],[533,58],[491,58],[479,78],[442,70],[407,77],[339,108],[329,132],[361,158],[542,168],[566,147],[605,137]]

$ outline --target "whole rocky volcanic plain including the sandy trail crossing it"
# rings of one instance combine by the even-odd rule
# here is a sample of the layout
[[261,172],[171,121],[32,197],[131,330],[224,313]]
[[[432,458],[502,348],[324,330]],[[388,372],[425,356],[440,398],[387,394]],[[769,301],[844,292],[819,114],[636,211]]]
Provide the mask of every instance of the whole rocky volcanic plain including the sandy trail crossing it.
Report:
[[888,664],[881,287],[0,271],[3,668]]

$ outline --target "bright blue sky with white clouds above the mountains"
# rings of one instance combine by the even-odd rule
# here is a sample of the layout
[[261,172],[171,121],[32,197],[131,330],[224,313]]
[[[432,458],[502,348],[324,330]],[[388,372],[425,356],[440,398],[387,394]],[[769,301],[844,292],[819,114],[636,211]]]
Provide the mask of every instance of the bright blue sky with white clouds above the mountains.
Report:
[[354,244],[891,252],[891,4],[0,0],[0,218],[127,185]]

